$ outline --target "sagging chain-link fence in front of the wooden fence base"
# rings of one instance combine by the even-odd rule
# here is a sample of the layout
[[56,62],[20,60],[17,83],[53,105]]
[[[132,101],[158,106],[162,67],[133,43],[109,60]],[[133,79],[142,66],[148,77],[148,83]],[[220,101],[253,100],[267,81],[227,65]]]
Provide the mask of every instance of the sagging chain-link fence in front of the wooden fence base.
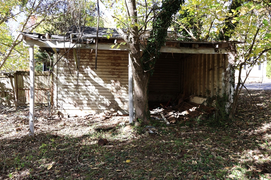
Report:
[[[49,104],[35,103],[35,116],[48,117],[50,116],[49,109],[51,109],[49,108]],[[0,97],[0,114],[29,116],[29,103],[26,102],[25,97],[17,100],[9,100],[8,98]]]

